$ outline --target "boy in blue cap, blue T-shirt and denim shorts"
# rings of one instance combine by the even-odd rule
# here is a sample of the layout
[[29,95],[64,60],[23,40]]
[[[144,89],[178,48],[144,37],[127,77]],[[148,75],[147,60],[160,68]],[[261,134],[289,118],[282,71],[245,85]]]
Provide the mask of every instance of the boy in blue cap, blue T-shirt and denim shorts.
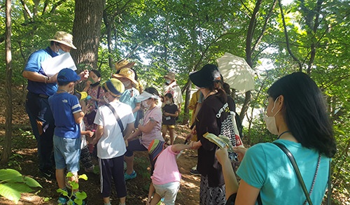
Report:
[[[56,164],[56,179],[58,188],[67,191],[65,173],[70,171],[73,176],[69,181],[78,183],[80,158],[80,127],[84,113],[78,98],[73,95],[74,85],[80,77],[71,69],[62,69],[57,75],[58,90],[49,97],[48,102],[55,119],[53,148]],[[66,170],[65,170],[66,169]],[[78,190],[72,190],[73,196]],[[59,196],[58,203],[66,204],[67,197]]]

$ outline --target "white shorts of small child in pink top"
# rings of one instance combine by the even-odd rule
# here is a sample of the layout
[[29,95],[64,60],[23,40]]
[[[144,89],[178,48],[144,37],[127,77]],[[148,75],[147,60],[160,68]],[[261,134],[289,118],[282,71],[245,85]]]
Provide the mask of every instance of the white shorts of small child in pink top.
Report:
[[160,195],[160,197],[164,197],[164,204],[175,204],[176,195],[180,188],[180,182],[174,181],[170,183],[165,183],[163,185],[155,185],[155,192]]

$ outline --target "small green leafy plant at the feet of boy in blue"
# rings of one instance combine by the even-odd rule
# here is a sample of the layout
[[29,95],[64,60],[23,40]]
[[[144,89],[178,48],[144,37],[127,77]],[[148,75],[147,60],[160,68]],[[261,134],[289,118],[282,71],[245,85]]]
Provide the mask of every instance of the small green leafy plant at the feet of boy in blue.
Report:
[[[74,176],[70,171],[66,174],[66,178],[71,178]],[[83,180],[87,181],[87,176],[86,174],[79,175],[78,179],[82,178]],[[79,184],[76,181],[68,181],[69,185],[71,186],[72,190],[78,190],[79,189]],[[62,189],[57,190],[58,193],[64,195],[65,197],[68,197],[69,200],[66,204],[68,205],[73,205],[73,204],[78,204],[81,205],[83,204],[83,200],[86,199],[87,195],[85,192],[67,192]]]

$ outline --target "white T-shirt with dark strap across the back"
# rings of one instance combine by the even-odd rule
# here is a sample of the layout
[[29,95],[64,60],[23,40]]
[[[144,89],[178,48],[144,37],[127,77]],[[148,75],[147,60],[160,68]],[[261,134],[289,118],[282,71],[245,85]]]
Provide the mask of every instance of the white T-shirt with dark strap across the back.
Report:
[[[120,120],[122,120],[123,127],[126,129],[127,124],[134,123],[135,118],[132,114],[132,108],[123,104],[122,102],[111,102],[111,106],[116,110]],[[113,112],[108,106],[100,106],[97,110],[94,124],[102,125],[104,127],[104,134],[97,143],[97,157],[100,159],[111,159],[120,157],[127,151],[123,139],[123,132],[113,115]]]

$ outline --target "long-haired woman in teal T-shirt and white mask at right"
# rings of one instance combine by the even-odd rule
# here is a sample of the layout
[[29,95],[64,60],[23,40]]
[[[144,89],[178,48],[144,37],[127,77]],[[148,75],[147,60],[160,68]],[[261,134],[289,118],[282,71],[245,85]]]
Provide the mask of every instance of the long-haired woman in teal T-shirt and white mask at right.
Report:
[[[330,157],[336,152],[325,99],[314,80],[301,72],[277,80],[267,93],[267,129],[293,154],[311,201],[321,204]],[[262,204],[305,202],[288,157],[273,143],[249,148],[237,174],[241,182],[236,204],[255,204],[259,192]]]

